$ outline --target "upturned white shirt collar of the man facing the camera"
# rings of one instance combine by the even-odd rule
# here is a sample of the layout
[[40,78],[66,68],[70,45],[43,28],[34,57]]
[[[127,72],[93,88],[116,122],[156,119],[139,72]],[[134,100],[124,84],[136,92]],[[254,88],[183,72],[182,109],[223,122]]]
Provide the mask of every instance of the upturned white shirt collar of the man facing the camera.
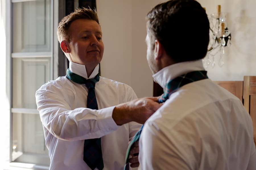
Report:
[[[69,61],[69,70],[79,76],[82,76],[83,78],[88,79],[85,65],[73,63]],[[98,73],[99,73],[99,64],[94,68],[89,79],[94,78]]]

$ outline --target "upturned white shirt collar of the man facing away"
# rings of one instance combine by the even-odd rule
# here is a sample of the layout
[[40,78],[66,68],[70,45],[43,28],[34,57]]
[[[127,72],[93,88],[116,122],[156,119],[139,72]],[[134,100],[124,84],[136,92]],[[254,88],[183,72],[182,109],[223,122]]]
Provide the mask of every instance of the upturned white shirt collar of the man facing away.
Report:
[[166,83],[168,83],[171,79],[174,79],[187,72],[197,70],[205,70],[202,60],[186,61],[182,63],[172,64],[170,66],[162,68],[152,77],[162,88],[164,88]]

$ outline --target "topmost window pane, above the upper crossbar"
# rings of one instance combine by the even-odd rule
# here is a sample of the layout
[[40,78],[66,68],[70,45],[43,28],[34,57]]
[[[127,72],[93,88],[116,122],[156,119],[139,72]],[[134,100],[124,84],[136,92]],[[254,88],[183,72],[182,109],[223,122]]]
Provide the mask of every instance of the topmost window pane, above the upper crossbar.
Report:
[[51,51],[51,1],[13,3],[13,52]]

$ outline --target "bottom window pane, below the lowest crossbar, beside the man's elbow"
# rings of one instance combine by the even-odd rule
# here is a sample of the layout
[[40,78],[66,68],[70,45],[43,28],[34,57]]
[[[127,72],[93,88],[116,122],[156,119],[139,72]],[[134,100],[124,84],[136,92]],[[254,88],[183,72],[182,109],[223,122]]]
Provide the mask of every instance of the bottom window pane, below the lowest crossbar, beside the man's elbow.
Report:
[[48,154],[39,115],[13,113],[12,161],[49,165]]

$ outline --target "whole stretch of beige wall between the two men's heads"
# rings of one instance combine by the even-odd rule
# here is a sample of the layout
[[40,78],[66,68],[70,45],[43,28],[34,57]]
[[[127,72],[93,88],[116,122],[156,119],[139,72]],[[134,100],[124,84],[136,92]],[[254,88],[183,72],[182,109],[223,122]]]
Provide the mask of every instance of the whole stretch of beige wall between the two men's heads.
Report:
[[138,97],[152,96],[152,73],[146,61],[148,0],[96,1],[105,44],[102,76],[130,85]]

